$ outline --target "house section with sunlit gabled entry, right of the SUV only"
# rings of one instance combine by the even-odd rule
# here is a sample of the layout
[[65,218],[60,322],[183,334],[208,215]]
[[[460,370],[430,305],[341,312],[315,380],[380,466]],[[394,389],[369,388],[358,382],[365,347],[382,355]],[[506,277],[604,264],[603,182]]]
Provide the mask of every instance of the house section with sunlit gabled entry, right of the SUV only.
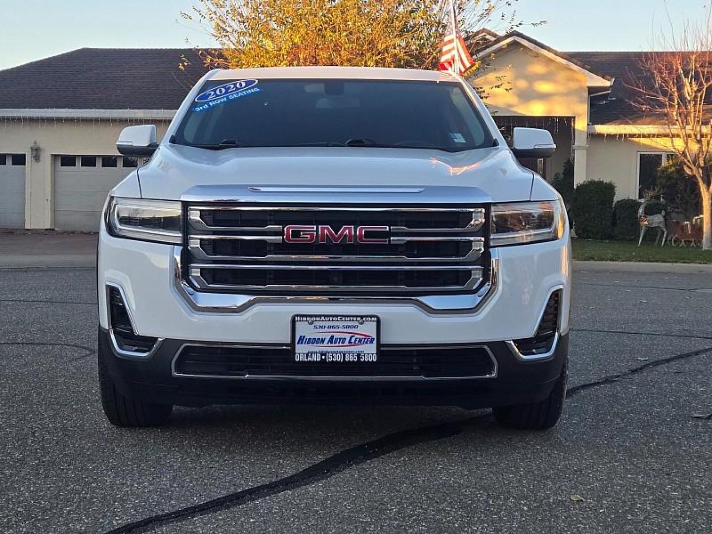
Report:
[[476,38],[483,67],[468,81],[501,130],[543,127],[554,137],[555,155],[535,170],[551,179],[573,157],[576,184],[614,182],[617,199],[639,199],[653,187],[671,139],[664,117],[635,105],[632,86],[649,83],[641,62],[650,52],[562,53],[518,31]]

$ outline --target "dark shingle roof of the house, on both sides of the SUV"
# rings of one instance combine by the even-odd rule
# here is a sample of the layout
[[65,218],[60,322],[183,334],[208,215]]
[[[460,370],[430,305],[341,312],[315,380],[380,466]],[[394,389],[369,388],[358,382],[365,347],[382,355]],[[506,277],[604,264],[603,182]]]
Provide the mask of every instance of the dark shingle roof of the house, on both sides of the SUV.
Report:
[[[645,80],[641,60],[649,52],[567,52],[513,32],[577,66],[614,80],[611,92],[591,101],[594,125],[662,124],[632,103],[629,87]],[[493,34],[493,37],[496,34]],[[189,64],[179,68],[182,58]],[[192,48],[80,48],[59,56],[0,70],[0,109],[176,110],[206,73]]]

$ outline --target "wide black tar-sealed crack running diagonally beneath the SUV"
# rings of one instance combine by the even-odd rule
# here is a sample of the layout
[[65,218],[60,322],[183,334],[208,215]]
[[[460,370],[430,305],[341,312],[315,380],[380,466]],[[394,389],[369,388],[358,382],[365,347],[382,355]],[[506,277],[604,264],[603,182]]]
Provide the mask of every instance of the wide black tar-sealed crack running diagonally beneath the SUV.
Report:
[[[566,398],[574,397],[587,389],[613,384],[619,379],[637,375],[653,367],[685,360],[686,358],[702,355],[706,352],[712,352],[712,347],[694,350],[692,352],[684,352],[682,354],[666,357],[662,360],[655,360],[654,362],[647,362],[644,365],[639,365],[638,367],[617,373],[616,375],[609,375],[593,382],[579,384],[566,390]],[[491,414],[478,414],[455,422],[420,426],[414,429],[387,434],[379,439],[367,441],[364,444],[338,452],[317,464],[298,471],[298,473],[279,478],[276,481],[253,486],[252,488],[247,488],[235,493],[229,493],[225,496],[212,499],[211,501],[205,501],[186,508],[179,508],[178,510],[152,515],[151,517],[140,519],[132,523],[126,523],[120,527],[108,530],[105,534],[147,533],[159,526],[182,523],[183,521],[198,518],[203,515],[229,510],[253,501],[260,501],[263,498],[302,488],[303,486],[309,486],[315,482],[331,478],[337,473],[364,464],[367,461],[377,459],[380,456],[398,451],[399,449],[406,449],[407,447],[427,443],[429,441],[437,441],[439,439],[457,436],[470,427],[471,424],[484,421],[489,417],[491,417]]]

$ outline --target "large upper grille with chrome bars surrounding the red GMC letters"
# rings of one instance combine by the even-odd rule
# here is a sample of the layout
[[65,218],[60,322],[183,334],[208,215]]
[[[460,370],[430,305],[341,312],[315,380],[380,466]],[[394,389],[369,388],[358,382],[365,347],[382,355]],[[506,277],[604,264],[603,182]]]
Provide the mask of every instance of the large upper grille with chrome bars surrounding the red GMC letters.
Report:
[[[483,206],[211,204],[187,206],[187,214],[184,276],[197,290],[431,295],[476,290],[488,276]],[[290,225],[351,234],[288,243]],[[382,242],[356,242],[359,226],[382,227],[368,234]]]

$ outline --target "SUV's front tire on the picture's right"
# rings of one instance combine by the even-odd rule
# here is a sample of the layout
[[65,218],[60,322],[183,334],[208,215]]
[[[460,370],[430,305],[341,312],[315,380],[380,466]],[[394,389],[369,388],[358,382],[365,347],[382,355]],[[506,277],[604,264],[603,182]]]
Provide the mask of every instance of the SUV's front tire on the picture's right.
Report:
[[493,408],[492,411],[497,423],[505,428],[520,430],[546,430],[555,426],[564,409],[568,368],[567,357],[554,389],[542,401]]

